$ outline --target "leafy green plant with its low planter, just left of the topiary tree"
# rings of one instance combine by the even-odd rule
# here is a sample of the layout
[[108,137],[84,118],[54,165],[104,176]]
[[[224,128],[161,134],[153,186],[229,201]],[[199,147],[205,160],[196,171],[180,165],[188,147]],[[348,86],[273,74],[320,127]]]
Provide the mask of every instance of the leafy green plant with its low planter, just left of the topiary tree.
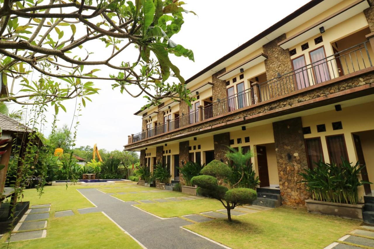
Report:
[[181,178],[184,181],[184,185],[182,185],[182,193],[196,196],[197,186],[191,184],[191,179],[194,176],[200,175],[200,171],[203,167],[204,165],[194,162],[187,162],[183,167],[177,167],[181,174]]

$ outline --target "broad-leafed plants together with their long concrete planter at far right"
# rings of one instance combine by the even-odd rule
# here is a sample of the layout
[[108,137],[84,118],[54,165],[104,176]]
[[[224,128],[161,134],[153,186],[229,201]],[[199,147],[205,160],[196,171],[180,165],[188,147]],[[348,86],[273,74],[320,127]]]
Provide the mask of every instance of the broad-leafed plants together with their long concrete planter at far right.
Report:
[[358,204],[358,187],[370,182],[358,179],[365,167],[351,165],[341,158],[342,163],[325,163],[322,159],[315,163],[313,169],[299,173],[303,176],[301,183],[306,184],[312,199],[306,200],[308,212],[336,215],[343,218],[362,219],[364,204]]

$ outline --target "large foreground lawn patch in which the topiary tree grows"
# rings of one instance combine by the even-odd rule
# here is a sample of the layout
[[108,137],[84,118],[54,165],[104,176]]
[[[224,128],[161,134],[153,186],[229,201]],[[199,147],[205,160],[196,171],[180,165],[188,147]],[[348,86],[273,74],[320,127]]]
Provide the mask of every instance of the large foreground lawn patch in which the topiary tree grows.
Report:
[[283,206],[232,218],[186,228],[231,248],[324,248],[361,224]]

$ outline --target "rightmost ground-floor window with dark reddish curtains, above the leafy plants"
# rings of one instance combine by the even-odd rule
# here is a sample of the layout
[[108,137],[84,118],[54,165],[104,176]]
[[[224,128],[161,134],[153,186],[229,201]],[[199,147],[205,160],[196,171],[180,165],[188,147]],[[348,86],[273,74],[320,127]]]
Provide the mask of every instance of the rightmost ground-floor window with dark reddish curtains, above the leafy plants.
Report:
[[326,137],[327,151],[330,163],[341,163],[341,157],[348,160],[348,153],[344,135],[334,135]]

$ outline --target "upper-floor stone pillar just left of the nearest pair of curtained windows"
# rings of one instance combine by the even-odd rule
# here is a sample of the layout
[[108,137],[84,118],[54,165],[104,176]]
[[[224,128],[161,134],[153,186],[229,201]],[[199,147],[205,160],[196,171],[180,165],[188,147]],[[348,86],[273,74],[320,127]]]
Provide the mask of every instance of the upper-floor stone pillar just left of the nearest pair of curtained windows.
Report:
[[[271,42],[263,46],[264,54],[268,56],[265,60],[266,78],[271,80],[276,78],[278,75],[283,75],[292,71],[291,58],[289,56],[288,49],[282,49],[278,46],[278,43],[286,39],[286,34],[282,34]],[[262,92],[269,92],[269,98],[280,96],[287,92],[293,92],[295,90],[294,84],[288,84],[287,89],[283,86],[283,82],[279,84],[269,84],[269,87]]]

